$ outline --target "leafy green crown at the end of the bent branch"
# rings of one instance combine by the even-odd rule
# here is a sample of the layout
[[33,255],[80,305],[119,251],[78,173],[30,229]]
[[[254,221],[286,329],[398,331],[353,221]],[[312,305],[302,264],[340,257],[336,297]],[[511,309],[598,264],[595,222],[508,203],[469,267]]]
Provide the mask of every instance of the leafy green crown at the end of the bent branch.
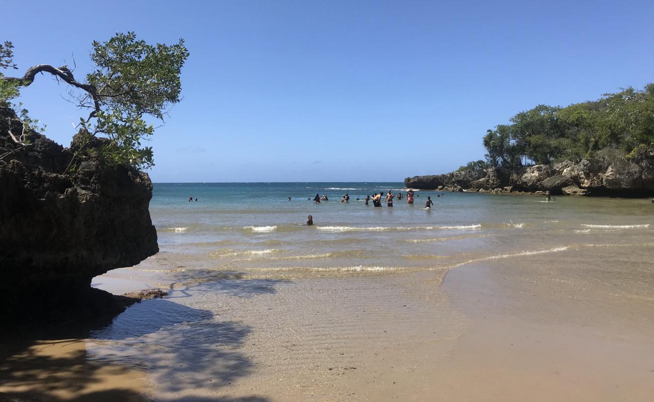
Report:
[[[95,113],[92,126],[81,122],[94,135],[110,139],[101,152],[107,163],[142,169],[154,165],[152,147],[142,144],[154,127],[143,116],[163,120],[168,105],[179,102],[179,75],[188,55],[182,39],[171,46],[152,46],[138,41],[133,32],[93,42],[91,59],[97,69],[86,81],[95,86],[101,110]],[[80,99],[80,104],[90,108],[93,102],[88,96]]]

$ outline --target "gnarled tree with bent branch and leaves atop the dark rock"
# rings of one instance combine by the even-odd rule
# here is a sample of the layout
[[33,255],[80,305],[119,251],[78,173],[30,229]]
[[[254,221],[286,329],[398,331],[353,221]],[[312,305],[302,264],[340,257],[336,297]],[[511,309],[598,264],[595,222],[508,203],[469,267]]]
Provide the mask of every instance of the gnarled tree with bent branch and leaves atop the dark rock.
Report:
[[[16,68],[12,48],[11,42],[0,46],[0,67]],[[81,82],[66,65],[35,65],[22,77],[0,74],[0,104],[9,105],[38,73],[50,73],[71,86],[69,95],[79,109],[88,110],[79,124],[88,141],[95,136],[109,140],[92,152],[107,163],[148,168],[154,164],[152,147],[141,141],[154,133],[154,126],[145,119],[150,116],[163,122],[168,108],[180,101],[180,74],[189,56],[184,40],[153,46],[133,32],[116,33],[109,41],[94,41],[92,48],[90,57],[96,67]]]

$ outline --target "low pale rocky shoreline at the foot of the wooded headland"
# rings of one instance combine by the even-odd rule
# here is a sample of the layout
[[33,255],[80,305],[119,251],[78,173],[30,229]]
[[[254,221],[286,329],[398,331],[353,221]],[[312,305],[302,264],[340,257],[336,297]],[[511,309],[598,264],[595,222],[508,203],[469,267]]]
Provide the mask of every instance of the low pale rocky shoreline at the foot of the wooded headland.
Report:
[[425,190],[477,192],[550,192],[553,195],[654,195],[654,156],[628,161],[597,158],[517,169],[456,171],[445,175],[407,177],[404,184]]

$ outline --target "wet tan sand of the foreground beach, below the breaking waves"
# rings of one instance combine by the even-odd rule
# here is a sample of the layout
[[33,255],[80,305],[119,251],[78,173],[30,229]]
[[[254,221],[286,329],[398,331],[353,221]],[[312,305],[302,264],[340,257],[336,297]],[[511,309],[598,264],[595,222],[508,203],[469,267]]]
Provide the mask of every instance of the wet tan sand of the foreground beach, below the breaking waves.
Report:
[[[168,299],[130,307],[86,343],[9,353],[0,392],[52,401],[114,393],[158,401],[651,401],[648,256],[647,245],[605,245],[449,271],[171,284]],[[185,303],[218,310],[194,327],[197,309],[175,307],[181,320],[141,337],[120,332]]]

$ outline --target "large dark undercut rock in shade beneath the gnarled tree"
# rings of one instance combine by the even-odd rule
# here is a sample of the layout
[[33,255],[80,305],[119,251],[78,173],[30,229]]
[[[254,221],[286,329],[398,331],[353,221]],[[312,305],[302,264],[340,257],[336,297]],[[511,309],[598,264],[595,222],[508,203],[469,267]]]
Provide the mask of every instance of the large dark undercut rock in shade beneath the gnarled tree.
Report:
[[71,173],[80,135],[63,148],[27,132],[28,144],[18,146],[8,135],[9,128],[22,131],[14,117],[0,108],[0,316],[58,318],[123,309],[90,282],[158,252],[148,211],[150,178],[95,159]]

